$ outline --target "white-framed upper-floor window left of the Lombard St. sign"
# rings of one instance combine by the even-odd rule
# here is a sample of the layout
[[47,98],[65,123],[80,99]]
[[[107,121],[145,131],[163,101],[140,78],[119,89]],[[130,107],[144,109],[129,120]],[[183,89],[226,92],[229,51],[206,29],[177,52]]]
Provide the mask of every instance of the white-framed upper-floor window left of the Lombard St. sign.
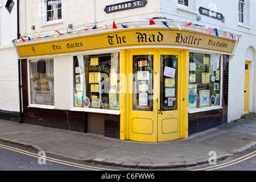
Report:
[[61,0],[49,0],[46,3],[46,22],[59,20],[61,15]]

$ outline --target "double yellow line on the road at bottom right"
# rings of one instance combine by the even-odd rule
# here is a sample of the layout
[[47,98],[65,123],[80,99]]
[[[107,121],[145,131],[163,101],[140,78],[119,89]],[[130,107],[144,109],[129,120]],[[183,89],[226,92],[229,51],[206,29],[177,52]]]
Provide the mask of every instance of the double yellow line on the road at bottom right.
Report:
[[243,162],[244,160],[253,158],[256,155],[256,154],[254,154],[255,152],[256,151],[251,152],[250,154],[244,155],[241,158],[234,159],[234,160],[232,160],[230,162],[226,162],[226,163],[223,163],[223,164],[218,164],[217,166],[211,166],[211,167],[206,167],[206,168],[201,168],[201,169],[195,169],[195,170],[192,170],[192,171],[200,171],[200,170],[212,171],[214,169],[220,169],[220,168],[232,166],[233,164],[237,164],[237,163]]

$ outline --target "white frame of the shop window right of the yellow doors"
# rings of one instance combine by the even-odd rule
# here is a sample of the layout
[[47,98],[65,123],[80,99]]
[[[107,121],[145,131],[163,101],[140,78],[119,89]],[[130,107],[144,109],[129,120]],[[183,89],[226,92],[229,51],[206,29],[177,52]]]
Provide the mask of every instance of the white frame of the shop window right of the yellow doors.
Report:
[[195,108],[195,109],[188,109],[188,113],[191,114],[191,113],[199,113],[199,112],[203,112],[203,111],[208,111],[208,110],[216,110],[216,109],[223,109],[223,106],[222,106],[222,97],[223,97],[223,92],[222,92],[222,86],[223,86],[223,57],[224,55],[220,55],[218,53],[209,53],[209,52],[201,52],[201,51],[190,51],[190,53],[207,53],[209,55],[218,55],[218,56],[221,56],[221,74],[220,74],[220,105],[218,106],[209,106],[209,107],[202,107],[202,108]]

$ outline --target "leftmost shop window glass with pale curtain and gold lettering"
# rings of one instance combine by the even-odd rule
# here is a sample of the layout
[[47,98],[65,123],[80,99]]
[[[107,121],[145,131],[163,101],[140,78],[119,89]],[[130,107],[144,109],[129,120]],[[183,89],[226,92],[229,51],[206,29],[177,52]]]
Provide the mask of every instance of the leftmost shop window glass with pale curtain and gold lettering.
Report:
[[54,105],[53,59],[30,60],[30,103]]

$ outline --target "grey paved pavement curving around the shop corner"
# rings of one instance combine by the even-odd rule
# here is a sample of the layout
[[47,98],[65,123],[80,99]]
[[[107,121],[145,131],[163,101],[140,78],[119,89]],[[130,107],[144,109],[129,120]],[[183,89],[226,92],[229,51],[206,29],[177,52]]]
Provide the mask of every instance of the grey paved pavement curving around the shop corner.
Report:
[[130,168],[176,168],[208,163],[256,144],[256,114],[246,114],[187,139],[147,143],[0,119],[0,140],[86,162]]

